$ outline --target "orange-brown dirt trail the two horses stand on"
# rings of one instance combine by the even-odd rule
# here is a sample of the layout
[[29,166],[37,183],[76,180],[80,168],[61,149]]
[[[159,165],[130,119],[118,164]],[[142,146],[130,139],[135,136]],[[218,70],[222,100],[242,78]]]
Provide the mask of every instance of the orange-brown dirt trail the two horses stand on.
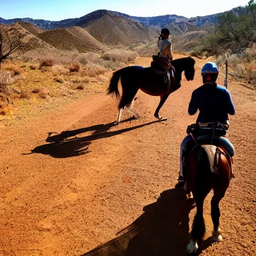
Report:
[[[139,57],[136,64],[150,61]],[[158,97],[139,92],[134,108],[141,118],[118,126],[111,123],[116,101],[97,94],[1,127],[0,255],[81,255],[100,244],[86,255],[185,255],[195,209],[172,188],[179,144],[196,118],[187,105],[201,84],[204,62],[196,59],[195,79],[184,79],[167,99],[160,110],[166,121],[153,117]],[[256,254],[256,93],[231,78],[228,88],[236,106],[228,133],[236,149],[235,179],[220,203],[223,241],[207,239],[200,255]],[[47,132],[65,130],[76,138],[45,142]],[[205,238],[212,228],[209,200]],[[122,236],[111,241],[121,229]]]

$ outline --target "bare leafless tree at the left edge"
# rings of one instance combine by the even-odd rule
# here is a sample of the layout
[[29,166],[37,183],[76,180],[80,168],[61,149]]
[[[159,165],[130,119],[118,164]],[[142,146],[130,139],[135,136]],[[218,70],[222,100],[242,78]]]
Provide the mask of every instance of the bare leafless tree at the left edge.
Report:
[[16,27],[0,25],[0,69],[3,59],[13,61],[22,52],[23,37]]

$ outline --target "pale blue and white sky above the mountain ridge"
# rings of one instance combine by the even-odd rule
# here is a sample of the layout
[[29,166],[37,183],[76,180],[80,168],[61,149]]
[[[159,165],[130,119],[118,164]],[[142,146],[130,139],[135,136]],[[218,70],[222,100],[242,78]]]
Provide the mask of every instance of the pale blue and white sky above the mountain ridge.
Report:
[[61,20],[81,17],[97,9],[133,16],[177,14],[204,16],[246,5],[248,0],[0,0],[0,17]]

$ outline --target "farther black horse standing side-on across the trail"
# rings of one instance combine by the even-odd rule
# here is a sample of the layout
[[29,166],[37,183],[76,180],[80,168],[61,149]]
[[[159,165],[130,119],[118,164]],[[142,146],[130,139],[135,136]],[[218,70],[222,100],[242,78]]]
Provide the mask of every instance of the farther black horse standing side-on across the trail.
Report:
[[194,63],[195,61],[191,57],[172,60],[171,64],[175,68],[176,80],[170,85],[169,89],[167,83],[164,82],[164,75],[155,73],[150,66],[126,66],[115,71],[107,92],[108,94],[114,94],[116,97],[120,96],[117,84],[119,78],[121,78],[122,96],[118,106],[119,111],[116,123],[119,123],[125,107],[128,107],[135,117],[138,117],[138,114],[132,109],[134,97],[138,89],[152,96],[160,96],[160,102],[154,112],[154,116],[160,119],[158,113],[163,103],[171,92],[180,87],[181,73],[184,71],[188,81],[193,80]]

